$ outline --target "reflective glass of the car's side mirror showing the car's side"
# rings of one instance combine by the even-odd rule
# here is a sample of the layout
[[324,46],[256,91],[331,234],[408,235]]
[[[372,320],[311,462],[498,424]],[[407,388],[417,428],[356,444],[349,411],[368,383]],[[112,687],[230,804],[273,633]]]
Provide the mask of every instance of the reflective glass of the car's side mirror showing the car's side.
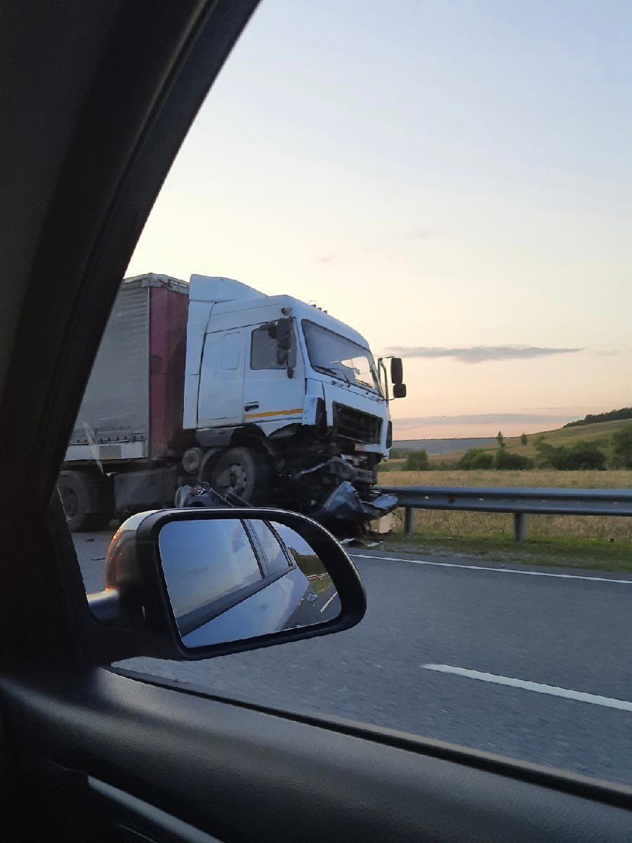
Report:
[[158,549],[185,647],[242,641],[340,615],[323,562],[284,524],[172,521],[160,530]]

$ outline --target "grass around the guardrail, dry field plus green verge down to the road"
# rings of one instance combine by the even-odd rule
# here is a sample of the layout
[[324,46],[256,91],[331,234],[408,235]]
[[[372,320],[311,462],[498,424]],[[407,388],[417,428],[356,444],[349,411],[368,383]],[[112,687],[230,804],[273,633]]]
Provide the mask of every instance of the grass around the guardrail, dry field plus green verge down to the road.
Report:
[[[571,428],[581,429],[581,428]],[[632,471],[391,471],[381,482],[388,486],[549,486],[584,489],[630,489]],[[398,513],[400,516],[401,513]],[[417,510],[417,543],[434,542],[437,546],[474,551],[513,546],[510,514],[448,513],[442,510]],[[403,524],[396,519],[392,540],[410,541],[402,536]],[[522,553],[549,557],[565,553],[584,560],[587,566],[622,564],[632,569],[632,518],[581,515],[529,515],[528,541]],[[622,563],[622,564],[619,564]],[[548,564],[552,564],[551,561]],[[584,564],[583,566],[586,566]]]

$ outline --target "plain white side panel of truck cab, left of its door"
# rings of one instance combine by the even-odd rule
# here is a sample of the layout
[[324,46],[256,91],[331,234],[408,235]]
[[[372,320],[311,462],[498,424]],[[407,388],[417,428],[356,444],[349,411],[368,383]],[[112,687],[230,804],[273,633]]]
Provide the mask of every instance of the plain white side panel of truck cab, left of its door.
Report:
[[245,336],[244,328],[206,334],[197,400],[198,427],[243,423]]

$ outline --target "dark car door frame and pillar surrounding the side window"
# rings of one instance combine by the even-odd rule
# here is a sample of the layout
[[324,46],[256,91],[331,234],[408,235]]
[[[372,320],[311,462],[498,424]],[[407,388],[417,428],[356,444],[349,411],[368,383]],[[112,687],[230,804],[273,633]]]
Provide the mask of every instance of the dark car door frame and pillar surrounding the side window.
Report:
[[[473,827],[487,832],[486,840],[506,840],[521,825],[539,830],[539,840],[569,830],[576,839],[583,831],[586,840],[624,840],[629,788],[94,668],[95,652],[124,658],[134,647],[125,631],[99,628],[89,615],[55,497],[56,473],[119,279],[190,122],[256,3],[92,0],[73,8],[72,20],[66,5],[15,2],[0,10],[12,35],[0,56],[3,78],[13,96],[20,84],[32,91],[28,101],[9,104],[15,122],[8,129],[15,132],[7,131],[3,157],[3,200],[17,221],[3,231],[13,238],[4,269],[14,290],[2,323],[11,348],[0,369],[0,432],[11,444],[3,468],[16,479],[5,481],[0,512],[0,704],[10,808],[29,828],[38,815],[57,813],[69,823],[73,814],[56,808],[59,796],[72,812],[86,808],[81,822],[94,829],[89,808],[100,784],[110,803],[137,799],[222,840],[262,829],[294,840],[296,823],[306,841],[321,839],[323,829],[370,840],[467,840]],[[73,50],[83,50],[82,59],[62,78],[60,55],[71,65]],[[74,80],[72,103],[60,94],[46,110],[43,82],[54,89],[58,80]],[[48,150],[57,169],[43,161],[43,169],[34,164],[20,173],[29,152],[20,149],[20,120],[35,136],[46,120],[68,123]],[[38,196],[46,213],[28,217],[27,225]],[[59,831],[65,837],[66,827]]]

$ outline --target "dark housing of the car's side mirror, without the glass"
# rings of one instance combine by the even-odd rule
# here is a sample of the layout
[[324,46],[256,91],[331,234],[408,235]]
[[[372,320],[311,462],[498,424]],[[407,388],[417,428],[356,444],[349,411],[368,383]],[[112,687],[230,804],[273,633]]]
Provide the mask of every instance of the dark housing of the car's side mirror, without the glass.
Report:
[[[329,613],[319,613],[318,605],[308,598],[307,602],[313,611],[319,613],[315,615],[318,622],[313,626],[292,626],[235,641],[214,642],[208,646],[198,646],[197,643],[185,646],[185,636],[179,629],[169,598],[169,583],[161,561],[159,536],[169,524],[178,523],[184,527],[187,522],[199,524],[201,521],[220,519],[272,523],[298,534],[301,540],[310,545],[329,574],[339,601],[338,614],[320,622],[320,618],[327,618]],[[212,548],[210,550],[212,552]],[[186,551],[183,546],[183,557]],[[367,604],[356,567],[340,543],[320,524],[311,518],[284,510],[225,507],[167,509],[128,518],[110,543],[106,563],[106,590],[104,593],[88,595],[88,605],[97,623],[133,631],[139,641],[146,642],[143,649],[147,655],[190,661],[349,629],[362,620]]]

